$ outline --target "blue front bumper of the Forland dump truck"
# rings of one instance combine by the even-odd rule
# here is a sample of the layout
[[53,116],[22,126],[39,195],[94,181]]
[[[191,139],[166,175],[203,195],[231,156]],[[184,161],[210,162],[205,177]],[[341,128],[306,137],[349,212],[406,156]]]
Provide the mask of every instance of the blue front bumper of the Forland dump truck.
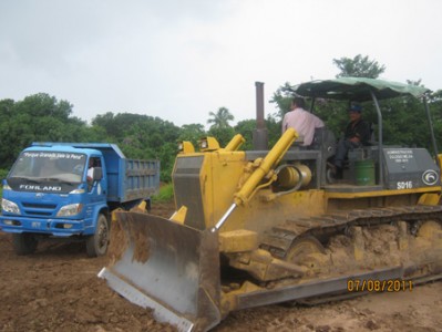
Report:
[[[92,235],[93,228],[85,227],[86,220],[35,219],[21,216],[0,215],[0,230],[4,232],[33,232],[55,237]],[[90,224],[89,224],[90,225]]]

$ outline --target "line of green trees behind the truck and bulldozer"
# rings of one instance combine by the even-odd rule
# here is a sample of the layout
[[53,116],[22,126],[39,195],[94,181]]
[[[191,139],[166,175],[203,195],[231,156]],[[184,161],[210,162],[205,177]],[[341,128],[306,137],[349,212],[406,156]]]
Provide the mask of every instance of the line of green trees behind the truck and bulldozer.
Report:
[[[357,55],[352,59],[333,59],[338,66],[337,76],[378,77],[386,70],[377,61],[368,56]],[[409,84],[421,85],[420,81]],[[286,82],[273,95],[278,112],[268,114],[266,125],[271,146],[280,136],[280,123],[284,114],[289,111],[292,93],[291,84]],[[429,96],[433,126],[439,146],[442,146],[442,91]],[[326,125],[340,136],[348,118],[346,104],[342,102],[322,101],[316,105],[316,113]],[[363,116],[377,122],[376,112],[367,105]],[[395,98],[381,104],[383,114],[383,139],[386,144],[422,146],[431,149],[428,124],[422,105],[413,98]],[[417,118],[417,107],[422,108],[422,116]],[[208,112],[208,131],[203,124],[186,124],[176,126],[160,117],[132,113],[107,112],[96,115],[91,125],[73,116],[73,106],[68,101],[59,101],[47,93],[24,97],[22,101],[10,98],[0,101],[0,175],[4,176],[18,154],[32,142],[101,142],[115,143],[129,158],[156,158],[161,160],[163,181],[171,180],[172,167],[177,154],[178,142],[191,141],[195,146],[204,136],[214,136],[222,146],[237,133],[246,138],[244,149],[251,149],[253,131],[256,127],[254,118],[235,120],[226,107]]]

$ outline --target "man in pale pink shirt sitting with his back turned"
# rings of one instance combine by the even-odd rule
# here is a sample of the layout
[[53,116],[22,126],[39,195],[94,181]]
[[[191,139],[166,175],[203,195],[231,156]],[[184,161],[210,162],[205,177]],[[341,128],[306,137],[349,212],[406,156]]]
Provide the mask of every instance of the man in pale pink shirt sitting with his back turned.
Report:
[[309,146],[313,142],[315,129],[323,127],[323,122],[306,111],[305,106],[305,101],[301,97],[295,97],[291,101],[291,111],[284,115],[282,134],[291,127],[299,136],[304,137],[302,146]]

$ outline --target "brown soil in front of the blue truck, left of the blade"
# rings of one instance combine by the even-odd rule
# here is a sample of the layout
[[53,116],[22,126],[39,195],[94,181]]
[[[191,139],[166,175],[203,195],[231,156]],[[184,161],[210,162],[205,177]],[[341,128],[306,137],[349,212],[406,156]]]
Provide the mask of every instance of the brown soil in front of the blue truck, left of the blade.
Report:
[[0,242],[1,331],[173,331],[99,279],[105,258],[86,258],[84,245],[43,243],[17,257],[9,236]]

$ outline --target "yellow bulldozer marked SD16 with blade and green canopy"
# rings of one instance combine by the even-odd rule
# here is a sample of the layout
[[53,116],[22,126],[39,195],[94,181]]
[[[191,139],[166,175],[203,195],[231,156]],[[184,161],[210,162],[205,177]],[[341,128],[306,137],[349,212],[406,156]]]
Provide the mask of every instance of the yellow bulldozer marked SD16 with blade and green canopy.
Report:
[[[372,103],[377,142],[349,153],[339,181],[328,167],[336,137],[327,128],[310,148],[288,129],[267,151],[261,126],[254,151],[239,149],[240,135],[225,147],[213,137],[197,148],[183,142],[173,169],[176,212],[116,214],[110,263],[99,273],[112,289],[179,331],[207,331],[235,310],[408,291],[442,277],[441,168],[428,90],[342,77],[292,91]],[[404,96],[423,100],[415,112],[428,118],[433,156],[382,143],[380,102]]]

